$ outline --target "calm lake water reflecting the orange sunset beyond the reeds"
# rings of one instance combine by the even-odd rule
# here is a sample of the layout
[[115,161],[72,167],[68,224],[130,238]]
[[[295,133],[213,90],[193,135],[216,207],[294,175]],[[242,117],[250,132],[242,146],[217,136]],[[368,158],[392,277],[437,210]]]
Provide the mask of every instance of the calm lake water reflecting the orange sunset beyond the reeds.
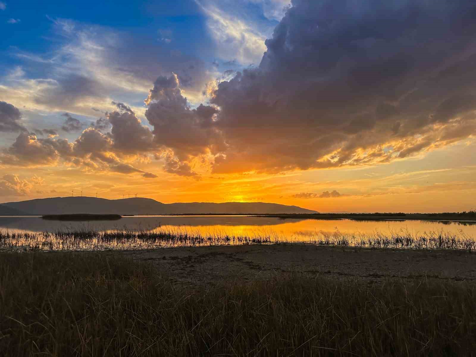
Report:
[[[323,235],[392,235],[412,237],[446,232],[465,239],[476,237],[476,222],[386,220],[361,221],[350,219],[281,219],[256,216],[132,216],[113,221],[54,221],[40,217],[0,217],[0,232],[58,232],[58,231],[166,231],[201,236],[270,237],[272,240],[314,241]],[[17,242],[22,245],[22,242]],[[103,246],[106,244],[106,246]],[[154,245],[155,244],[155,245]],[[77,248],[154,248],[156,242],[142,239],[125,242],[89,242]]]

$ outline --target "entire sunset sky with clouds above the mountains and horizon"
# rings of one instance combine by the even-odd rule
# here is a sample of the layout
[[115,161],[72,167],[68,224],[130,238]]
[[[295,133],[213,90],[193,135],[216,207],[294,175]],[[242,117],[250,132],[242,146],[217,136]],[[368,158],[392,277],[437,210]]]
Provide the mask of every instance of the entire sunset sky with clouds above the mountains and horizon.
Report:
[[476,3],[0,0],[0,202],[476,208]]

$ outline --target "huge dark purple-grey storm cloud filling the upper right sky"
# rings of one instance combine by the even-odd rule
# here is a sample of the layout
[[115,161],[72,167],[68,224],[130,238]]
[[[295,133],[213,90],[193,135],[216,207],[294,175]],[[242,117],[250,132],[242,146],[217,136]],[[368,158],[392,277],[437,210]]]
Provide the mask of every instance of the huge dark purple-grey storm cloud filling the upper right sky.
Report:
[[295,0],[259,67],[218,84],[217,112],[202,120],[163,77],[146,117],[181,162],[214,153],[214,172],[367,165],[442,147],[476,133],[475,16],[470,1]]

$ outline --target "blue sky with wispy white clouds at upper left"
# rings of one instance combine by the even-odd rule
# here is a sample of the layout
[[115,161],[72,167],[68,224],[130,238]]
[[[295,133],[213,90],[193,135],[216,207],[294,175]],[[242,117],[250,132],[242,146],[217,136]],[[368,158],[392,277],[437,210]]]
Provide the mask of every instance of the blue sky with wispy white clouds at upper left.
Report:
[[[202,94],[207,83],[225,79],[227,70],[259,64],[264,40],[285,5],[283,0],[2,1],[4,100],[21,103],[24,119],[35,129],[59,125],[64,112],[84,123],[95,120],[91,108],[106,112],[113,108],[111,100],[134,107],[144,119],[143,100],[153,81],[176,72],[189,104],[196,106],[208,100]],[[78,84],[78,77],[85,80]],[[58,83],[61,87],[61,81],[76,82],[69,100],[21,98]],[[75,106],[87,91],[98,98]],[[65,137],[75,139],[69,133]]]

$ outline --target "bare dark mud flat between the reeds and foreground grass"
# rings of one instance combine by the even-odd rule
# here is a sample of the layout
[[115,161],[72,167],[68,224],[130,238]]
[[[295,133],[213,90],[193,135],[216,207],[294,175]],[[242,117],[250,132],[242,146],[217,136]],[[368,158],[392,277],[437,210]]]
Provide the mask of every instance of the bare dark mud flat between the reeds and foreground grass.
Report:
[[448,249],[371,249],[305,243],[180,247],[121,251],[152,263],[184,287],[250,282],[276,274],[384,281],[436,278],[476,283],[476,253]]

